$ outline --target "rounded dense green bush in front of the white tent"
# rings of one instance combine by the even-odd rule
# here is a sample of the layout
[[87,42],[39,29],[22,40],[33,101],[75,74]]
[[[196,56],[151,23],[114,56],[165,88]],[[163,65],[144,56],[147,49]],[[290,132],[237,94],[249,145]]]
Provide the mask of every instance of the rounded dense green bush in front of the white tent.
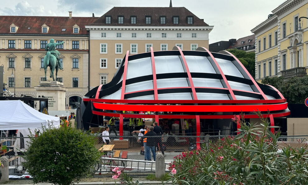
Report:
[[90,174],[99,161],[92,135],[75,128],[43,127],[37,137],[30,136],[23,165],[34,183],[69,185]]

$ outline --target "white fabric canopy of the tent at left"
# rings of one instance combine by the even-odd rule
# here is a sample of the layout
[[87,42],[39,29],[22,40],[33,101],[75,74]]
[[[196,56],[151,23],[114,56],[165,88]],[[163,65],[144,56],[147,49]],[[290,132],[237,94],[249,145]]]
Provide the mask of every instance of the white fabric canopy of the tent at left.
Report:
[[0,101],[0,130],[22,130],[60,125],[60,118],[43,114],[20,100]]

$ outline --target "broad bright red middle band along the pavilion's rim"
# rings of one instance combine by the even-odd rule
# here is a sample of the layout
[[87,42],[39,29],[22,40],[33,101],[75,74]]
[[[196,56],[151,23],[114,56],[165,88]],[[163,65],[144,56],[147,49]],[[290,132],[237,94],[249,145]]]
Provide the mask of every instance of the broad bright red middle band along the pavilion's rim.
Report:
[[269,105],[128,105],[93,102],[96,109],[117,111],[172,111],[172,112],[250,112],[280,111],[287,109],[287,103]]

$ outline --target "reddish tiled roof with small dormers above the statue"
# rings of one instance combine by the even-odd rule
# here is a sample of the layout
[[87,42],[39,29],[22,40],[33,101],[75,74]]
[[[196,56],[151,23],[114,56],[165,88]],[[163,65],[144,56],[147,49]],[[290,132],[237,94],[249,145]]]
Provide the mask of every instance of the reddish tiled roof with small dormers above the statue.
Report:
[[[11,33],[10,25],[18,26],[16,34],[74,34],[73,26],[80,27],[79,33],[74,35],[89,34],[85,25],[91,24],[98,17],[44,17],[44,16],[0,16],[0,34]],[[49,26],[48,33],[42,33],[42,25]],[[28,29],[30,27],[30,29]],[[66,31],[62,31],[62,29]],[[14,34],[14,33],[13,33]]]

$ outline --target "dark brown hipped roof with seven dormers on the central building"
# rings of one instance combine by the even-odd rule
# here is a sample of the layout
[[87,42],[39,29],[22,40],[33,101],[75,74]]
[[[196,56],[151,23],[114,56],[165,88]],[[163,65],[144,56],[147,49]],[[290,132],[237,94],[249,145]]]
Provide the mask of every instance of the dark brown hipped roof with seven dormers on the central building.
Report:
[[[111,16],[111,24],[106,24],[105,17]],[[124,16],[124,23],[118,23],[118,16]],[[136,24],[131,24],[131,16],[137,17]],[[151,24],[146,24],[145,17],[150,16]],[[160,17],[166,17],[166,24],[160,23]],[[187,23],[187,17],[194,17],[193,24]],[[172,17],[179,17],[179,24],[173,24]],[[185,7],[113,7],[91,26],[208,26]]]

